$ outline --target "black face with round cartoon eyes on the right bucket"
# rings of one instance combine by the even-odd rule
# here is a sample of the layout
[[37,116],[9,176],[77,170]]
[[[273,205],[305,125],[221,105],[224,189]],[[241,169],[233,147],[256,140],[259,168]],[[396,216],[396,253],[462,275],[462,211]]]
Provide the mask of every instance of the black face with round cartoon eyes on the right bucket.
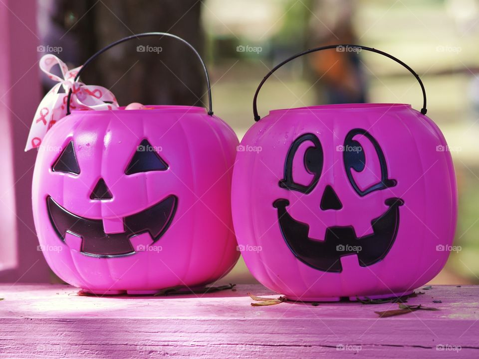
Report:
[[[308,184],[297,183],[293,180],[293,162],[298,148],[305,142],[310,146],[304,151],[303,165],[305,170],[312,175]],[[369,142],[368,146],[374,150],[376,162],[379,164],[377,182],[370,180],[366,186],[357,183],[355,177],[364,173],[366,177],[376,176],[372,168],[368,168],[365,147],[361,142]],[[384,153],[376,139],[364,129],[352,129],[346,136],[342,148],[344,168],[350,185],[361,197],[366,197],[373,191],[393,187],[397,181],[388,178],[388,170]],[[313,133],[306,133],[294,140],[284,164],[284,178],[279,181],[279,186],[289,191],[298,191],[303,194],[310,193],[317,185],[323,170],[323,148],[319,138]],[[360,181],[360,178],[358,178]],[[389,207],[377,218],[371,219],[371,234],[358,233],[354,226],[328,226],[325,237],[322,239],[309,238],[309,225],[294,219],[287,211],[289,201],[277,199],[273,206],[278,210],[278,224],[281,234],[293,254],[302,262],[312,268],[341,272],[340,258],[356,254],[361,266],[368,266],[384,258],[396,239],[399,228],[399,207],[404,204],[400,198],[388,198],[385,204]],[[345,205],[348,205],[345,203]],[[312,208],[316,208],[313,206]],[[320,211],[337,211],[343,208],[343,203],[331,185],[324,187],[321,196]],[[360,209],[358,209],[360,210]]]

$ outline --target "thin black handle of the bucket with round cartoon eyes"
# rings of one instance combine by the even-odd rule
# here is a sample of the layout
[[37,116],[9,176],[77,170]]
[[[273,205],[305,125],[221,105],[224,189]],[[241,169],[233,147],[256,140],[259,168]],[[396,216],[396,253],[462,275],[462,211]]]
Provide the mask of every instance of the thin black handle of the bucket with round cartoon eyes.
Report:
[[428,112],[428,110],[426,109],[426,90],[424,89],[423,82],[419,78],[419,75],[416,72],[414,72],[414,70],[412,68],[410,68],[408,65],[406,65],[404,62],[402,62],[398,58],[396,58],[396,57],[394,57],[394,56],[392,56],[392,55],[390,55],[390,54],[388,54],[384,51],[376,50],[375,48],[367,47],[367,46],[343,44],[343,45],[328,45],[328,46],[316,47],[316,48],[313,48],[313,49],[307,49],[305,51],[299,52],[296,55],[293,55],[293,56],[287,58],[286,60],[284,60],[280,64],[276,65],[271,71],[269,71],[267,73],[266,76],[263,77],[263,80],[259,83],[259,86],[256,89],[256,92],[254,93],[254,98],[253,98],[254,120],[258,121],[258,120],[261,119],[261,117],[258,115],[258,109],[257,109],[257,106],[256,106],[256,100],[257,100],[257,97],[258,97],[259,90],[261,89],[263,84],[266,82],[266,80],[269,78],[269,76],[271,76],[273,74],[273,72],[275,72],[277,69],[279,69],[281,66],[288,63],[289,61],[294,60],[296,57],[303,56],[303,55],[306,55],[306,54],[309,54],[309,53],[315,52],[315,51],[326,50],[326,49],[334,49],[334,48],[340,49],[341,47],[343,47],[344,50],[347,50],[348,48],[356,48],[356,49],[376,52],[377,54],[381,54],[381,55],[384,55],[386,57],[389,57],[390,59],[396,61],[397,63],[399,63],[399,64],[403,65],[405,68],[407,68],[409,70],[409,72],[411,72],[414,75],[416,80],[418,80],[419,85],[421,85],[421,90],[423,91],[423,108],[421,109],[421,114],[426,115],[426,113]]

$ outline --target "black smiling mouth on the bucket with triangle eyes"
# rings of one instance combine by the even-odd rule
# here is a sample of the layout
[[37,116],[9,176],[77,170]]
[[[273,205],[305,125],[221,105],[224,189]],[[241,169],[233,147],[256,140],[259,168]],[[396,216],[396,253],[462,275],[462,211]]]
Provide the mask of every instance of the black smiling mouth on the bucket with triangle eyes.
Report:
[[170,227],[177,203],[176,196],[168,196],[144,211],[124,217],[124,232],[107,234],[102,220],[77,216],[50,196],[46,199],[48,216],[58,237],[68,246],[65,240],[68,235],[80,238],[81,252],[99,257],[134,254],[136,250],[131,239],[142,234],[149,234],[150,243],[160,239]]

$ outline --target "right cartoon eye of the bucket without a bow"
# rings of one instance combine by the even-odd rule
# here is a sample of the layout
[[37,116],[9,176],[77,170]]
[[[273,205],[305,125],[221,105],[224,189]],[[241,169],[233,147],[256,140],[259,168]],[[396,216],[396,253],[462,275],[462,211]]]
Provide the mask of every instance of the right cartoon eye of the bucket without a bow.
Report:
[[[361,138],[361,141],[369,141],[372,146],[369,146],[368,148],[366,143],[361,145],[358,140],[353,138]],[[370,151],[374,148],[379,166],[377,170],[374,169],[373,164],[367,166],[366,148]],[[384,153],[379,146],[379,143],[365,129],[356,128],[349,131],[344,140],[343,160],[349,182],[356,193],[361,197],[373,191],[382,190],[396,185],[396,180],[388,178],[386,159],[384,158]],[[356,179],[353,176],[352,170],[356,172]],[[358,183],[360,181],[361,183]]]

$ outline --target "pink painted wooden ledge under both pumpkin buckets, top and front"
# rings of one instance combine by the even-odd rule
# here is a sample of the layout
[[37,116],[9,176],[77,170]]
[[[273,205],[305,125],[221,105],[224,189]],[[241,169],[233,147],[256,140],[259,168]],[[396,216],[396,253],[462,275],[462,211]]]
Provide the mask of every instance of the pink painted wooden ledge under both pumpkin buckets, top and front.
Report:
[[277,297],[260,285],[207,295],[87,297],[64,285],[2,284],[0,358],[479,357],[479,286],[434,286],[408,304],[440,311],[382,319],[374,311],[397,304],[251,307],[248,292]]

